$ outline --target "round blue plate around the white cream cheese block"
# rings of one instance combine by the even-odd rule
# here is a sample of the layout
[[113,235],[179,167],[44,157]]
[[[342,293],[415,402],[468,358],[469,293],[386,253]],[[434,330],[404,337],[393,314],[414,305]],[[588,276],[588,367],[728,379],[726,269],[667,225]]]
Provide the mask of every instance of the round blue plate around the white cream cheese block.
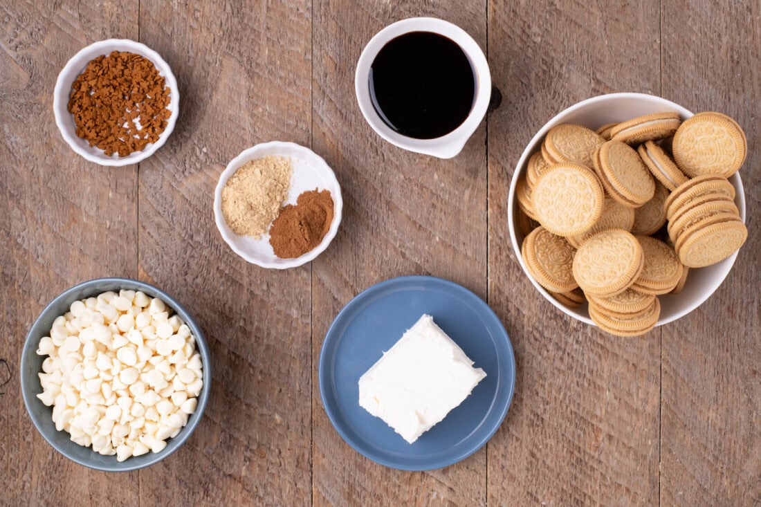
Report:
[[[408,444],[359,406],[358,381],[422,314],[432,315],[486,378]],[[478,451],[505,419],[514,388],[513,348],[495,313],[468,289],[432,276],[403,276],[361,292],[333,320],[320,353],[320,394],[336,431],[365,457],[401,470],[447,467]]]

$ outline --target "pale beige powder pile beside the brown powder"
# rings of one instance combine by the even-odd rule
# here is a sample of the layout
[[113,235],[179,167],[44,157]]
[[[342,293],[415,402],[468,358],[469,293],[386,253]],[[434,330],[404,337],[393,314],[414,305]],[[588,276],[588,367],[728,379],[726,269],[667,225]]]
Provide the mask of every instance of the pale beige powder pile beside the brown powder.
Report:
[[290,158],[257,158],[224,183],[222,214],[235,234],[260,239],[266,233],[288,197],[291,171]]

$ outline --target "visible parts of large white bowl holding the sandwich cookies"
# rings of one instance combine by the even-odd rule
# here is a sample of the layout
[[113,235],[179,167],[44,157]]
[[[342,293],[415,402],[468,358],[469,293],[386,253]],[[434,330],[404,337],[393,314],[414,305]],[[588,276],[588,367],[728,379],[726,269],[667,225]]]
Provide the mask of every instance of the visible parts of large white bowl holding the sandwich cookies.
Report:
[[[549,295],[549,293],[528,273],[523,257],[521,257],[523,237],[520,232],[517,231],[517,226],[515,224],[515,206],[517,206],[515,199],[515,184],[517,183],[518,177],[520,177],[526,170],[528,158],[534,151],[539,150],[541,143],[544,140],[544,136],[553,126],[559,125],[560,123],[577,123],[591,129],[597,129],[605,123],[621,122],[634,118],[635,116],[648,113],[661,113],[664,111],[676,111],[680,114],[683,120],[693,116],[693,113],[689,110],[686,110],[678,104],[674,104],[670,100],[646,94],[608,94],[583,100],[578,104],[563,110],[552,118],[552,120],[545,123],[540,131],[537,132],[537,135],[533,136],[533,139],[531,139],[531,142],[529,142],[526,149],[524,149],[524,152],[521,154],[521,159],[518,161],[517,166],[515,166],[515,172],[510,184],[510,193],[508,196],[508,225],[510,227],[510,239],[513,244],[515,257],[517,257],[518,262],[521,263],[521,268],[523,268],[524,273],[526,273],[528,279],[533,283],[533,286],[537,288],[547,301],[552,303],[552,305],[555,305],[565,314],[586,322],[587,324],[594,325],[589,318],[587,305],[582,305],[580,308],[576,309],[566,308],[564,305],[556,301],[555,298],[552,298],[552,296]],[[734,203],[737,205],[737,209],[740,210],[740,218],[745,222],[745,195],[743,193],[743,183],[740,181],[740,174],[735,173],[729,178],[729,182],[732,183],[734,190],[737,191]],[[714,291],[718,289],[718,286],[721,285],[724,278],[727,277],[736,258],[737,253],[734,253],[728,257],[728,259],[721,261],[721,263],[714,264],[713,266],[690,269],[686,285],[679,294],[658,296],[661,301],[661,317],[658,319],[658,325],[667,324],[680,317],[684,317],[686,314],[689,314],[690,311],[693,311],[695,308],[702,305],[703,301],[708,299]]]

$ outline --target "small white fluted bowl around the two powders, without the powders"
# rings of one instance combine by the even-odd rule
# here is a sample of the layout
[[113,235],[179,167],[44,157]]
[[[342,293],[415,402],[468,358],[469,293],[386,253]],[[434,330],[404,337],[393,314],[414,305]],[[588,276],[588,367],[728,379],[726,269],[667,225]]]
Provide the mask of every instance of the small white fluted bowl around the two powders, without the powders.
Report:
[[[291,188],[288,190],[288,199],[285,204],[296,204],[296,199],[302,192],[314,189],[328,190],[333,198],[333,222],[330,223],[330,229],[325,234],[323,241],[314,249],[295,259],[281,259],[276,256],[272,250],[272,245],[269,244],[269,233],[263,234],[262,238],[258,240],[252,236],[235,234],[224,221],[224,214],[222,213],[222,188],[228,182],[228,178],[235,174],[238,167],[247,161],[270,155],[291,158],[291,164],[293,164]],[[265,142],[241,151],[240,155],[233,158],[228,167],[222,171],[214,191],[214,219],[222,238],[240,257],[263,268],[288,269],[314,260],[320,253],[323,253],[330,241],[335,238],[341,223],[342,209],[341,187],[336,180],[336,174],[333,174],[333,170],[320,155],[294,142]]]

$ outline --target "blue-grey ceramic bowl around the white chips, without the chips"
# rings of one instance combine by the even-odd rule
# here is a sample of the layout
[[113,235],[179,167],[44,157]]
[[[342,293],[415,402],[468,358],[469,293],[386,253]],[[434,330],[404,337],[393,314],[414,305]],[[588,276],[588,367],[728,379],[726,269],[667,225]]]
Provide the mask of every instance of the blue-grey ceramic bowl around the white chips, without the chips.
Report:
[[[37,398],[37,394],[43,391],[42,386],[40,386],[40,378],[37,374],[42,371],[43,359],[47,357],[38,356],[37,347],[40,344],[40,339],[43,336],[47,336],[50,332],[53,320],[56,320],[56,317],[59,317],[59,315],[65,314],[72,305],[72,302],[78,299],[94,297],[107,291],[119,292],[119,289],[142,291],[152,298],[161,298],[187,324],[193,336],[196,337],[196,350],[201,355],[203,364],[203,387],[198,397],[198,407],[196,407],[196,412],[189,417],[186,426],[180,430],[180,433],[176,437],[167,440],[167,447],[163,451],[158,453],[148,451],[147,454],[137,457],[133,456],[121,463],[116,461],[116,455],[103,456],[98,454],[90,447],[82,447],[72,442],[69,439],[68,432],[59,432],[53,419],[51,419],[53,407],[46,407]],[[177,448],[180,448],[180,445],[185,443],[201,421],[203,410],[206,408],[206,403],[209,400],[211,385],[212,361],[209,346],[206,344],[203,333],[193,320],[193,317],[166,292],[156,289],[153,285],[124,278],[101,278],[82,282],[56,296],[45,307],[40,317],[37,317],[37,320],[34,321],[27,334],[24,351],[21,354],[21,392],[24,394],[24,404],[27,406],[27,412],[29,412],[34,426],[37,427],[37,431],[43,435],[43,438],[50,445],[53,445],[53,448],[56,448],[56,451],[59,451],[66,458],[85,467],[107,472],[128,472],[150,467],[152,464],[158,463],[174,451],[177,451]]]

